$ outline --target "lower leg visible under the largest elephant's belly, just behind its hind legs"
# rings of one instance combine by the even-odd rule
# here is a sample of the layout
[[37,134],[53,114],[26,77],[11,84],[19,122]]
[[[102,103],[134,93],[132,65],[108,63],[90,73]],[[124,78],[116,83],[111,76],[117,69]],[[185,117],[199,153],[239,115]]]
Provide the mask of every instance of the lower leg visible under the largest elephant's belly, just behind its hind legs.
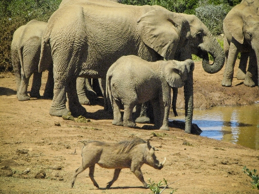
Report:
[[89,99],[86,97],[86,78],[78,77],[76,79],[76,91],[81,105],[90,105]]

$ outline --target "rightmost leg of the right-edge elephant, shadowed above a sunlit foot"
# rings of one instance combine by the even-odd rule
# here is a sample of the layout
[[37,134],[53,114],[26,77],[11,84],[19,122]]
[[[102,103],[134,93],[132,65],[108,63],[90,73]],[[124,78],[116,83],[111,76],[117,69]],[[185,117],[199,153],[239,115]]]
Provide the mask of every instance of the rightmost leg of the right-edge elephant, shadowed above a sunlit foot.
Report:
[[249,64],[245,74],[244,85],[248,87],[255,87],[256,84],[253,81],[255,80],[255,75],[257,75],[257,58],[255,51],[251,50],[249,53]]

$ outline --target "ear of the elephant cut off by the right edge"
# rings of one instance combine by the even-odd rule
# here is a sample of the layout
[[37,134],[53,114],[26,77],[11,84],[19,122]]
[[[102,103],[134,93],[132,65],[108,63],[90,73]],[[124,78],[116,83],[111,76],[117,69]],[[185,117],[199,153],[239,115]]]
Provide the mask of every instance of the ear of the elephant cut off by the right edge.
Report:
[[224,19],[225,29],[241,44],[244,41],[243,35],[243,9],[245,3],[241,3],[233,7]]

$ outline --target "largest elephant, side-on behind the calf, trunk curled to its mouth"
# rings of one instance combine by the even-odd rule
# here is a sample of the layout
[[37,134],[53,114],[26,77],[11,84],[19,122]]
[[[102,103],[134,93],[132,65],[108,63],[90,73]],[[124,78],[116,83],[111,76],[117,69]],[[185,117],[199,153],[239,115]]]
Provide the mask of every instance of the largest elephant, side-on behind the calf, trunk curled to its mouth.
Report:
[[[42,38],[41,58],[50,47],[54,66],[50,114],[62,116],[69,110],[73,115],[86,113],[76,95],[76,78],[105,78],[111,64],[122,55],[138,55],[147,61],[174,59],[175,53],[181,58],[189,57],[188,49],[177,46],[185,45],[190,34],[202,39],[208,33],[207,28],[195,26],[200,31],[192,34],[190,27],[181,14],[160,6],[124,5],[106,0],[62,6],[52,14]],[[207,72],[217,72],[223,67],[224,59],[217,45],[215,38],[199,45],[198,53],[205,58],[203,67]],[[181,51],[176,52],[177,49]],[[213,65],[208,63],[207,52],[215,57]]]

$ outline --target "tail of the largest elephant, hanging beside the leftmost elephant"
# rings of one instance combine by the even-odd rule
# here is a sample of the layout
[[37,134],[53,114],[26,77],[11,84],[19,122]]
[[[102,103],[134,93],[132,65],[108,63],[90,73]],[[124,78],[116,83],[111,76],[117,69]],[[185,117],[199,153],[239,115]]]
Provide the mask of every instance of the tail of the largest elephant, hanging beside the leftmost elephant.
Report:
[[49,35],[47,36],[43,35],[41,40],[38,72],[42,72],[48,69],[49,64],[52,63],[52,61],[49,61],[49,60],[52,60],[52,57],[50,57],[51,54],[52,52],[51,52]]

